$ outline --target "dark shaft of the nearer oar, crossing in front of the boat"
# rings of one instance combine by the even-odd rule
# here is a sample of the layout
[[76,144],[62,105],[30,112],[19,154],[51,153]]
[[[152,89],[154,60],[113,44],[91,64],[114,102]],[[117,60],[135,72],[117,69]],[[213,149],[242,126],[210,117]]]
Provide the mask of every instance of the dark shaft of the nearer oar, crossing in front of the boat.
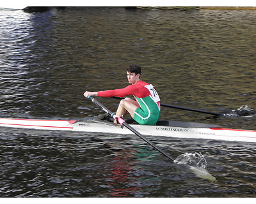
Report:
[[[104,110],[104,112],[108,113],[109,115],[111,115],[111,117],[116,117],[115,113],[111,112],[110,110],[108,110],[108,108],[106,108],[104,105],[102,105],[99,101],[97,101],[97,99],[92,98],[92,96],[88,97],[89,99],[92,100],[93,103],[95,103],[97,106],[100,106],[100,108],[102,110]],[[141,135],[138,131],[136,131],[136,129],[132,128],[132,126],[130,126],[129,124],[127,124],[125,122],[125,120],[118,118],[120,124],[124,125],[127,129],[131,130],[135,135],[139,136],[142,140],[144,140],[145,142],[147,142],[149,145],[151,145],[152,147],[154,147],[154,149],[158,150],[159,152],[161,152],[164,156],[168,157],[168,159],[174,161],[174,159],[168,155],[166,152],[164,152],[163,150],[159,149],[154,143],[152,143],[150,140],[148,140],[147,138],[145,138],[145,136]]]

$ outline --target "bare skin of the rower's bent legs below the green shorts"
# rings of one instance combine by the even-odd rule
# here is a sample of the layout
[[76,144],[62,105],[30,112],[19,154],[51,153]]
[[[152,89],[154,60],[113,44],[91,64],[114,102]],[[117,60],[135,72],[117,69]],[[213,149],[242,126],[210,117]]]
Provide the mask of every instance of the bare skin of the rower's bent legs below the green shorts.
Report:
[[[132,100],[131,98],[125,98],[122,99],[119,103],[119,106],[116,110],[116,115],[118,117],[125,117],[127,112],[130,113],[131,117],[133,117],[135,110],[140,107],[139,103],[137,101]],[[116,123],[116,120],[115,120]]]

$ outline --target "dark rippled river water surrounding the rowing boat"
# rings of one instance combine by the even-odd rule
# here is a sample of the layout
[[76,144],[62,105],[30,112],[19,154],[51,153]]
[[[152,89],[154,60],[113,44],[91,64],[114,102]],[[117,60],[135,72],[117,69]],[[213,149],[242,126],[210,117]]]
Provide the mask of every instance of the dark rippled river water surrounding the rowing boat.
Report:
[[[0,117],[98,115],[83,92],[125,87],[129,64],[140,64],[163,103],[256,109],[255,10],[1,10],[0,21]],[[117,99],[97,99],[116,110]],[[173,108],[162,108],[161,119],[256,129],[255,117]],[[173,157],[202,154],[216,181],[135,135],[0,128],[0,196],[256,197],[255,143],[148,138]]]

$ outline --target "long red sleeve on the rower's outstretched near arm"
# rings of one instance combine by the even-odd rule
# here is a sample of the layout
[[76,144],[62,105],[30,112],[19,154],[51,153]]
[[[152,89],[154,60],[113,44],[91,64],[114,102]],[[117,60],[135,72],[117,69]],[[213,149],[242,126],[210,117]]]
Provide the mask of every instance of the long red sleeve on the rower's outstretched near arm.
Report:
[[107,90],[107,91],[99,91],[98,96],[101,97],[112,97],[112,96],[129,96],[129,95],[136,95],[137,88],[134,85],[129,85],[124,89],[115,89],[115,90]]

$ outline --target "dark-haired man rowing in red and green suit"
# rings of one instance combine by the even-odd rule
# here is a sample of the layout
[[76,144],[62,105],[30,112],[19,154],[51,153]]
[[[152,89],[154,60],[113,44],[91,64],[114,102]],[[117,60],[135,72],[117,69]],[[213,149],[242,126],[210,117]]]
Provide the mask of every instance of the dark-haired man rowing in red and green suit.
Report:
[[[84,92],[84,96],[129,96],[133,95],[136,101],[131,98],[122,99],[116,110],[118,117],[124,116],[127,112],[141,125],[154,125],[160,116],[160,98],[152,84],[140,80],[141,68],[137,65],[128,66],[127,79],[129,86],[124,89],[107,90],[100,92]],[[115,121],[116,122],[116,121]]]

